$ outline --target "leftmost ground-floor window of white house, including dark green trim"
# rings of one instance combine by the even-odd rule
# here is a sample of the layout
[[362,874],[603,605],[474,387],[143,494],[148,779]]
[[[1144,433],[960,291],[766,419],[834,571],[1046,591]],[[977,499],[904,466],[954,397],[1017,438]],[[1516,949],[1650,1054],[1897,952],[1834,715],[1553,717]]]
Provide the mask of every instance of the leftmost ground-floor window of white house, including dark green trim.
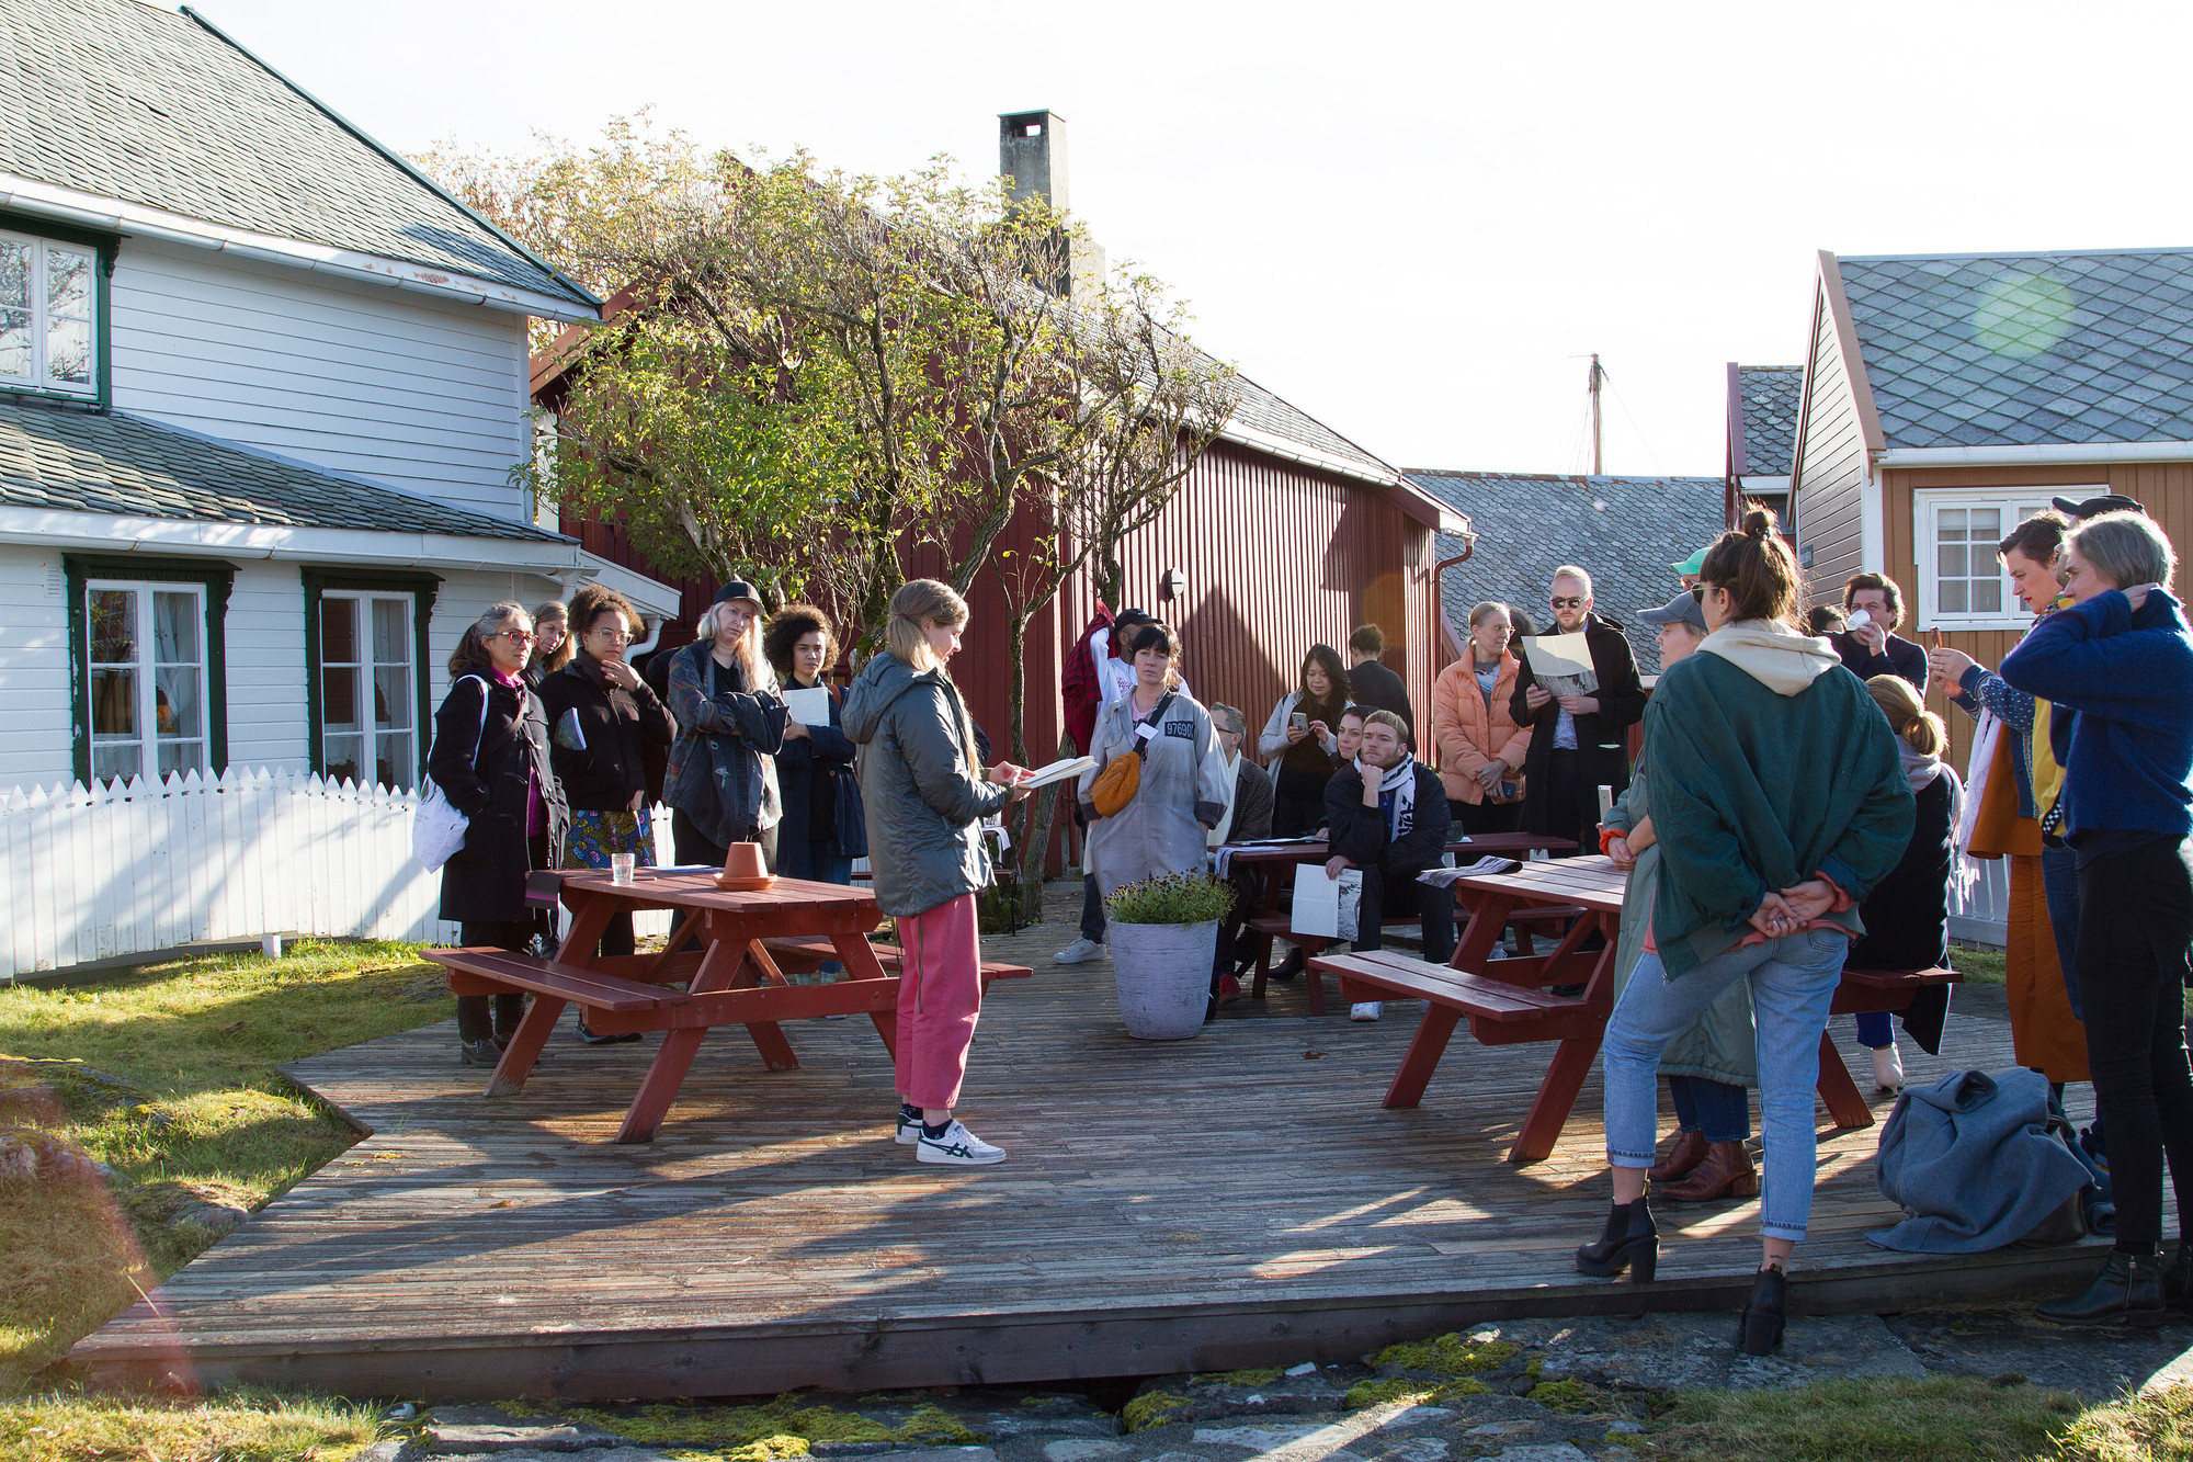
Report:
[[228,591],[204,560],[66,553],[75,771],[81,781],[228,766]]

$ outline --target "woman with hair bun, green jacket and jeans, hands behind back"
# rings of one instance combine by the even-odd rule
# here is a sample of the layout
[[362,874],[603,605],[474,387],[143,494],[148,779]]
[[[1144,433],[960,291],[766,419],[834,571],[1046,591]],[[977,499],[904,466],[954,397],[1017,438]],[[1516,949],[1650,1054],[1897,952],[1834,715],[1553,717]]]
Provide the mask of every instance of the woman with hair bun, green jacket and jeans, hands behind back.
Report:
[[1820,1032],[1857,904],[1904,856],[1912,792],[1888,722],[1827,641],[1796,630],[1798,566],[1752,509],[1700,573],[1706,641],[1660,676],[1645,711],[1660,845],[1645,951],[1605,1030],[1614,1205],[1577,1269],[1649,1280],[1660,1236],[1660,1051],[1735,981],[1752,990],[1765,1183],[1763,1256],[1737,1324],[1746,1354],[1781,1343],[1789,1253],[1811,1216]]

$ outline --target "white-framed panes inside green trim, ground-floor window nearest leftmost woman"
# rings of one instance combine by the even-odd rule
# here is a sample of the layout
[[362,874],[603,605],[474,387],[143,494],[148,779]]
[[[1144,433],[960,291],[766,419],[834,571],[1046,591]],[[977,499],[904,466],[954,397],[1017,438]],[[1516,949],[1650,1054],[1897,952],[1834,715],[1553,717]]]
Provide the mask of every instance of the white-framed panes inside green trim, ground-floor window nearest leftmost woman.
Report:
[[320,771],[417,784],[417,648],[408,593],[320,593]]

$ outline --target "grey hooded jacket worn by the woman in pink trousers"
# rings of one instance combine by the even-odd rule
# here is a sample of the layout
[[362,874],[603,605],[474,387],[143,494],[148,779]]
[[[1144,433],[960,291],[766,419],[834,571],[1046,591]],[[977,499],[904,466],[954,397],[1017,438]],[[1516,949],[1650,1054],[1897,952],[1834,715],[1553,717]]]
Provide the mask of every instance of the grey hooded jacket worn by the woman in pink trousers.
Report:
[[886,650],[853,678],[844,733],[860,746],[875,907],[910,918],[989,887],[980,823],[1011,788],[982,781],[974,722],[952,681],[914,674]]

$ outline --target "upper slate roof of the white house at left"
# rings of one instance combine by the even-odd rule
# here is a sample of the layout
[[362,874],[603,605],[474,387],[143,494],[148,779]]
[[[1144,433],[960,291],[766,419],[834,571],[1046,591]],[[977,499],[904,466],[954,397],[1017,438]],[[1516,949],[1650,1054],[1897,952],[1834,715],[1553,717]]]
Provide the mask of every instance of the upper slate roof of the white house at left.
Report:
[[7,0],[0,57],[4,171],[599,303],[191,15]]

